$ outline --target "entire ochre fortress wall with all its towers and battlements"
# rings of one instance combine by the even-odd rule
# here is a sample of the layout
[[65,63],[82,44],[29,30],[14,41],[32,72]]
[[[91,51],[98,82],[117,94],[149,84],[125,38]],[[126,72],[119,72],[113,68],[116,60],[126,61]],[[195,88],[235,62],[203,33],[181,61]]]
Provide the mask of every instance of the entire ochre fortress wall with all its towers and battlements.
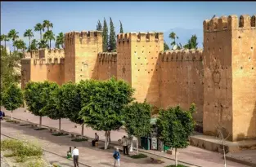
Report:
[[65,33],[65,51],[42,49],[21,59],[21,86],[123,79],[134,97],[156,108],[195,103],[204,134],[223,125],[229,140],[256,138],[255,16],[204,20],[204,50],[164,51],[163,33],[121,33],[117,52],[102,52],[99,31]]

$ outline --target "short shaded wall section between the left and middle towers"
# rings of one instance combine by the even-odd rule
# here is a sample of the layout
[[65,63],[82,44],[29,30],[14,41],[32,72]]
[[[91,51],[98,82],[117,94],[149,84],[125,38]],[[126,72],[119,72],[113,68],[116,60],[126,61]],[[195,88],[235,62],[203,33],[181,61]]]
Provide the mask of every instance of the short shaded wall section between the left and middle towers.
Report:
[[98,79],[107,80],[117,75],[117,53],[102,52],[98,54]]

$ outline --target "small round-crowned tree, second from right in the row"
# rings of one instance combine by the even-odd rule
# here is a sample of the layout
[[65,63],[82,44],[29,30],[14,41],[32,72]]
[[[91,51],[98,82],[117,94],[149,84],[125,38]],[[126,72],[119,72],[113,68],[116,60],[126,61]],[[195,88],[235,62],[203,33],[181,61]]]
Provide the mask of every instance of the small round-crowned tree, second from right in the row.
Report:
[[130,136],[136,136],[137,138],[137,155],[139,154],[138,139],[150,134],[151,109],[146,100],[144,103],[134,102],[124,108],[124,126]]

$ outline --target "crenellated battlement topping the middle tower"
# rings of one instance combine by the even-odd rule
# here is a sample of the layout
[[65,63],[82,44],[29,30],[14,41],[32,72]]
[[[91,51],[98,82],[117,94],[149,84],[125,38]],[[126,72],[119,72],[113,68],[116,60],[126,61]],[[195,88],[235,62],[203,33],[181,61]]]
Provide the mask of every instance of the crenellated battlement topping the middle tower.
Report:
[[118,42],[153,42],[153,41],[163,41],[164,33],[154,33],[154,32],[139,32],[139,33],[119,33],[117,35]]

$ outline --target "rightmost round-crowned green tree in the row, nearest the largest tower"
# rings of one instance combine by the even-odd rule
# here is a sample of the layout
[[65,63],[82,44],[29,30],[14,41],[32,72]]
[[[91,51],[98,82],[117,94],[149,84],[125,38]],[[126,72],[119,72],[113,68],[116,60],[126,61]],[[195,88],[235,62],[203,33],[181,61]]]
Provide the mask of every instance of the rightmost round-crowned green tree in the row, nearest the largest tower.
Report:
[[160,109],[156,121],[159,139],[165,146],[175,148],[175,165],[177,166],[177,148],[185,148],[189,145],[188,139],[195,128],[192,113],[195,112],[195,104],[191,104],[189,111],[183,111],[179,106]]

